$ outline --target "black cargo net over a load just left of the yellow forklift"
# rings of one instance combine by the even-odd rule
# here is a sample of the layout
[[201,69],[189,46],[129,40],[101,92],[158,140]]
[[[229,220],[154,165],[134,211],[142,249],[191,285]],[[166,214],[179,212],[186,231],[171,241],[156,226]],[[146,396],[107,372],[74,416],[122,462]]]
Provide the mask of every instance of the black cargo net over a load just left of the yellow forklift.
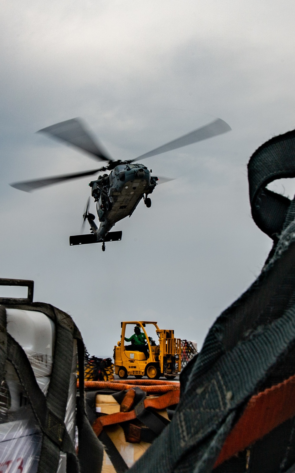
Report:
[[85,350],[85,381],[113,381],[114,365],[111,358],[97,358],[90,356]]

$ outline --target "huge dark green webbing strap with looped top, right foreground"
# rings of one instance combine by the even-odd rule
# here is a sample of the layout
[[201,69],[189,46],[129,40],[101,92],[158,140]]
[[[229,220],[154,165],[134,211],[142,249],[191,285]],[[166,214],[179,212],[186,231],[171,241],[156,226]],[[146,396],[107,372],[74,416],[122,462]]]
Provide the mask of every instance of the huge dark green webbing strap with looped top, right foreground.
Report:
[[[211,327],[181,377],[172,421],[130,473],[210,473],[249,398],[295,373],[295,209],[266,189],[295,176],[295,131],[262,145],[248,169],[253,219],[278,244],[257,280]],[[289,464],[260,472],[286,471]]]

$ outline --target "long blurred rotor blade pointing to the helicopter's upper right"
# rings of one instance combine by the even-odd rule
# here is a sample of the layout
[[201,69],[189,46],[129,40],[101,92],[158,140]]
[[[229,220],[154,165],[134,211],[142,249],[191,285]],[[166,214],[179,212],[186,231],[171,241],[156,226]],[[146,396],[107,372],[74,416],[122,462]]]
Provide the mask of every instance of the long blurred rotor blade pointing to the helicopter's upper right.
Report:
[[166,151],[171,151],[172,149],[182,148],[183,146],[197,143],[197,141],[207,140],[208,138],[221,135],[222,133],[226,133],[230,130],[231,128],[228,123],[221,120],[221,118],[217,118],[216,120],[214,120],[214,122],[208,123],[208,125],[202,126],[197,130],[191,131],[190,133],[187,133],[187,135],[177,138],[177,140],[170,141],[169,143],[166,143],[166,145],[160,146],[156,149],[152,149],[152,151],[138,156],[138,158],[133,159],[133,161],[150,158],[150,156],[156,156],[157,154],[166,153]]

